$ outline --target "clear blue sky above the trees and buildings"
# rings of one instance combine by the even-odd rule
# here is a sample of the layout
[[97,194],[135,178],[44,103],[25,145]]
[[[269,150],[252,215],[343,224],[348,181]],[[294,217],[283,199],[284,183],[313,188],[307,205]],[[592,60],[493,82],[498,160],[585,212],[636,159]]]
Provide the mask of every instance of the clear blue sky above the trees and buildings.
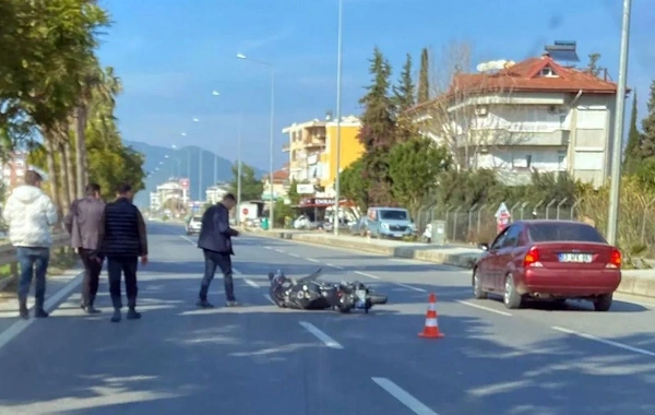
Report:
[[[201,145],[237,157],[241,131],[246,163],[267,168],[270,71],[236,59],[270,61],[276,73],[275,166],[282,128],[321,118],[336,103],[337,0],[105,0],[114,26],[100,58],[115,67],[124,93],[118,118],[126,140]],[[361,112],[374,46],[395,73],[409,52],[418,63],[430,47],[434,64],[453,42],[473,48],[473,63],[520,61],[553,40],[576,40],[618,76],[618,0],[344,0],[343,112]],[[640,116],[655,76],[655,9],[633,1],[629,85],[640,91]],[[216,90],[221,96],[215,97]],[[193,122],[198,117],[200,122]],[[186,132],[187,137],[181,137]]]

